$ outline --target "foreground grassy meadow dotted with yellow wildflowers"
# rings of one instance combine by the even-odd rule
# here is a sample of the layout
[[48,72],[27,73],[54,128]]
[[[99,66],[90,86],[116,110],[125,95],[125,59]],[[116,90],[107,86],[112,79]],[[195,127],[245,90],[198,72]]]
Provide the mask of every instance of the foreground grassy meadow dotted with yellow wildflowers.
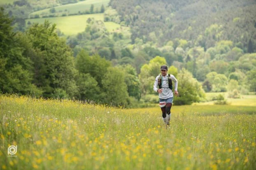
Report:
[[256,106],[173,106],[165,129],[158,107],[0,95],[0,168],[253,170],[255,113]]

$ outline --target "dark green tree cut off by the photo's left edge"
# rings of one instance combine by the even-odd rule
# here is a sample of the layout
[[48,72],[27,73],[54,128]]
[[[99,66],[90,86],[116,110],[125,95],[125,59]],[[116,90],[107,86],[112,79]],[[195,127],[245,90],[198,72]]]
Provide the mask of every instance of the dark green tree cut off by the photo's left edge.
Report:
[[0,9],[0,91],[33,94],[32,62],[24,56],[19,36],[13,32],[12,19]]

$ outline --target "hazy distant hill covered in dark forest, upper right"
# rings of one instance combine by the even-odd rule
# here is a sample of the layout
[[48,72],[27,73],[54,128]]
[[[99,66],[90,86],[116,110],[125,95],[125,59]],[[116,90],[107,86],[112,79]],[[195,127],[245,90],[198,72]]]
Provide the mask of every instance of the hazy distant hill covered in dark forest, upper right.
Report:
[[220,40],[256,44],[255,0],[110,0],[121,21],[130,25],[132,41],[186,39],[205,49]]

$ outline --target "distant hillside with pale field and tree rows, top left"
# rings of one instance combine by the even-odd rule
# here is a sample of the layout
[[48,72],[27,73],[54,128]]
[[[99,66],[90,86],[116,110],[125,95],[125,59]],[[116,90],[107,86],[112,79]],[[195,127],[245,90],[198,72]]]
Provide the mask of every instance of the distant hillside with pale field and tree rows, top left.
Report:
[[109,0],[1,0],[0,7],[14,18],[14,31],[23,32],[28,18],[103,13],[108,2]]

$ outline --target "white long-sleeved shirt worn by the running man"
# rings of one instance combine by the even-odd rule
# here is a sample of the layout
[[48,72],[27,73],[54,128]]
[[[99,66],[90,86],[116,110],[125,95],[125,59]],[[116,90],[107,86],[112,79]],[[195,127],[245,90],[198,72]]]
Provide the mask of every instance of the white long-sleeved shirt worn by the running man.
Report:
[[[162,76],[162,75],[160,75]],[[156,81],[154,83],[154,91],[157,92],[158,89],[158,77],[156,77]],[[178,80],[174,77],[174,75],[170,75],[172,82],[174,82],[174,90],[178,91]],[[172,90],[169,88],[169,83],[168,83],[168,75],[162,76],[162,93],[159,93],[159,98],[161,99],[167,99],[170,97],[173,97]]]

